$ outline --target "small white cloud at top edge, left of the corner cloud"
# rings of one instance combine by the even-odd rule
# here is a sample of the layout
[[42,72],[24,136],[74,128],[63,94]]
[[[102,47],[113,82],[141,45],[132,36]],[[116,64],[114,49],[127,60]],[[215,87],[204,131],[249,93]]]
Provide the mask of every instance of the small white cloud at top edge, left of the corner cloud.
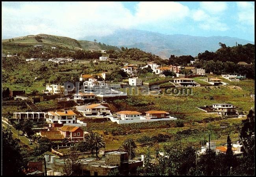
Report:
[[209,13],[221,13],[227,9],[226,2],[201,2],[200,7]]

